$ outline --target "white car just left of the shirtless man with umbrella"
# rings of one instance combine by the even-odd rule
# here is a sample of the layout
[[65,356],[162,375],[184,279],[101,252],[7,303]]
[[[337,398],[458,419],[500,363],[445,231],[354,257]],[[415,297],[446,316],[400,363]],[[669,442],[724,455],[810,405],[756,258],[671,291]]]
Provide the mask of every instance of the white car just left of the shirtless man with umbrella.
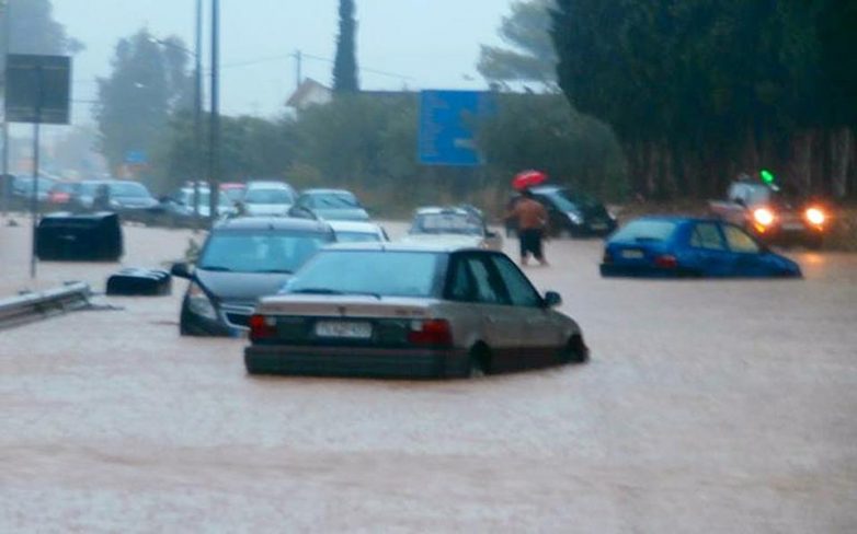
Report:
[[419,208],[402,242],[503,249],[503,237],[489,230],[481,213],[469,207]]

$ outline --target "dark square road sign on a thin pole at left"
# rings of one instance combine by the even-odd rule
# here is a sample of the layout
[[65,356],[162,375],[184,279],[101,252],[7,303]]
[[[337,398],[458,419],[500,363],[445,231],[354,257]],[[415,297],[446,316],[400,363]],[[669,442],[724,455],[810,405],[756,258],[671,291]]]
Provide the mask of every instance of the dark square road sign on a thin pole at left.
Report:
[[33,249],[30,277],[36,276],[38,239],[38,165],[42,124],[68,124],[71,59],[67,56],[10,54],[5,65],[5,119],[33,125]]

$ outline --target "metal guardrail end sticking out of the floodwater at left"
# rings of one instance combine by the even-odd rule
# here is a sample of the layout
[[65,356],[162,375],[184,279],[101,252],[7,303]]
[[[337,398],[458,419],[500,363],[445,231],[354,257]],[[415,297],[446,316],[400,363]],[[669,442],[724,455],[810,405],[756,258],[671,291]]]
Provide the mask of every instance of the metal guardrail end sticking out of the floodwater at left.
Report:
[[0,299],[0,330],[90,305],[88,283],[70,282],[46,291]]

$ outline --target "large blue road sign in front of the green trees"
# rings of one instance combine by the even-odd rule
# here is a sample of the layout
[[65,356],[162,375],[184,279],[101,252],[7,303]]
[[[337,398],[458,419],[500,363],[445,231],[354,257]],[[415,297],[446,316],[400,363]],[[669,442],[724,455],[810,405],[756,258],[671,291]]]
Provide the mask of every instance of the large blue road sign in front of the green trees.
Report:
[[420,94],[419,159],[423,165],[477,166],[475,126],[491,115],[493,95],[484,91],[423,91]]

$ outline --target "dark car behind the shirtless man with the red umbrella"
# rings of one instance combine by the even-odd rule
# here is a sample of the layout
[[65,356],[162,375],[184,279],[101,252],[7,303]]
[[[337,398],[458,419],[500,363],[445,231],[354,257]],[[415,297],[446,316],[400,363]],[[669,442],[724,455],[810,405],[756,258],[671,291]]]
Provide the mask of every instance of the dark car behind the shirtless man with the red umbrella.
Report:
[[[558,237],[604,236],[616,230],[616,217],[596,198],[567,187],[537,186],[529,189],[533,197],[548,211],[548,231]],[[509,208],[521,198],[510,199]],[[517,223],[506,221],[506,235],[517,231]]]

